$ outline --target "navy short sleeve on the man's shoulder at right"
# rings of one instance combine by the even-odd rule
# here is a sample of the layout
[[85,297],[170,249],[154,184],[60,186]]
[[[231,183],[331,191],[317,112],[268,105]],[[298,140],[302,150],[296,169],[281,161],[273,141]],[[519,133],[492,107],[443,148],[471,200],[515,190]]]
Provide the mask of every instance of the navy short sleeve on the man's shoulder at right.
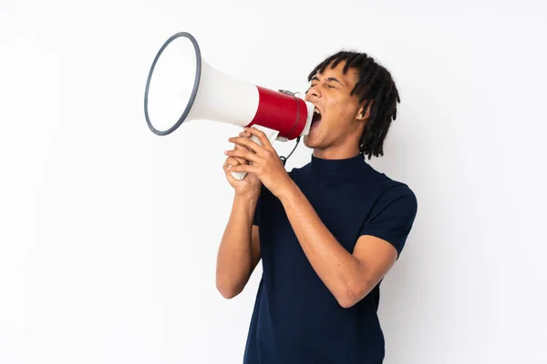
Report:
[[359,231],[386,240],[397,249],[397,259],[407,241],[418,212],[418,200],[407,185],[389,188],[372,208]]

